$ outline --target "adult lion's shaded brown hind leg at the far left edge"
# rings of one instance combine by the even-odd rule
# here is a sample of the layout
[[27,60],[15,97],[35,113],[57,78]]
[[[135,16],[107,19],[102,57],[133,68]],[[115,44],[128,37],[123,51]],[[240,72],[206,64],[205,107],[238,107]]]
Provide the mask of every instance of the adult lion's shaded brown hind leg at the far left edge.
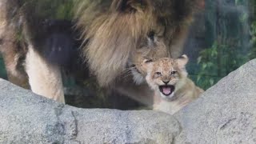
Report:
[[8,80],[13,82],[18,86],[29,89],[29,83],[27,80],[27,75],[24,74],[24,69],[22,68],[21,59],[24,59],[24,53],[22,50],[17,50],[17,41],[15,36],[15,26],[9,25],[8,23],[8,10],[6,6],[6,1],[2,0],[0,2],[0,52],[6,66],[6,73]]

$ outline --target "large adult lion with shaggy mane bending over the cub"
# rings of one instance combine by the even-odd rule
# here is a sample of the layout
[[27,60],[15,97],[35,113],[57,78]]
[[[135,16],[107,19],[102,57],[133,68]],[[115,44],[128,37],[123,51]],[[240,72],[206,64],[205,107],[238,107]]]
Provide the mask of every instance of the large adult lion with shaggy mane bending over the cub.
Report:
[[[74,50],[78,41],[68,42],[75,37],[72,26],[65,22],[49,24],[47,13],[38,13],[43,9],[38,3],[2,0],[1,51],[11,82],[26,87],[28,78],[35,93],[65,102],[62,65],[71,63],[84,70],[85,64],[77,60],[80,58],[100,86],[112,86],[137,99],[137,95],[145,96],[141,92],[147,89],[142,85],[146,74],[142,61],[181,54],[188,26],[202,0],[74,1],[74,26],[82,41],[78,51]],[[138,86],[129,83],[127,70]],[[124,77],[127,82],[120,81]]]

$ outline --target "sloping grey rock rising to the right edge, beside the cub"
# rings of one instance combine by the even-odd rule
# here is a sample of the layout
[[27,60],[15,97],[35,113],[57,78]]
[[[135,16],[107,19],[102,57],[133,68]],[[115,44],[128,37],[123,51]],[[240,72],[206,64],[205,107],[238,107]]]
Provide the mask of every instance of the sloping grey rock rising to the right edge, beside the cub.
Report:
[[222,78],[175,114],[176,144],[256,143],[256,59]]

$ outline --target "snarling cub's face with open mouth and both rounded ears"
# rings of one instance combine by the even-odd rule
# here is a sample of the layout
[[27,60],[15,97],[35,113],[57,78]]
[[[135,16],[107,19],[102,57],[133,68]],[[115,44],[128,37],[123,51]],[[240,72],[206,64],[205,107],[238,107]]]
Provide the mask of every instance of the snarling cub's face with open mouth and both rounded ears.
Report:
[[146,82],[158,92],[163,98],[172,98],[177,89],[178,82],[186,78],[186,63],[188,58],[182,55],[181,58],[160,58],[155,62],[145,61],[147,70]]

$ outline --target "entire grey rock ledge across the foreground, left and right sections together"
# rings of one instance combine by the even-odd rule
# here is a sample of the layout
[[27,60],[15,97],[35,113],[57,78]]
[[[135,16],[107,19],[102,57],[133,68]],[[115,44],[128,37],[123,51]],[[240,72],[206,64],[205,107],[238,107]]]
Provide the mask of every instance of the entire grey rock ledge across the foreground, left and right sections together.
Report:
[[0,143],[254,144],[255,103],[256,59],[174,117],[149,110],[78,109],[0,79]]

